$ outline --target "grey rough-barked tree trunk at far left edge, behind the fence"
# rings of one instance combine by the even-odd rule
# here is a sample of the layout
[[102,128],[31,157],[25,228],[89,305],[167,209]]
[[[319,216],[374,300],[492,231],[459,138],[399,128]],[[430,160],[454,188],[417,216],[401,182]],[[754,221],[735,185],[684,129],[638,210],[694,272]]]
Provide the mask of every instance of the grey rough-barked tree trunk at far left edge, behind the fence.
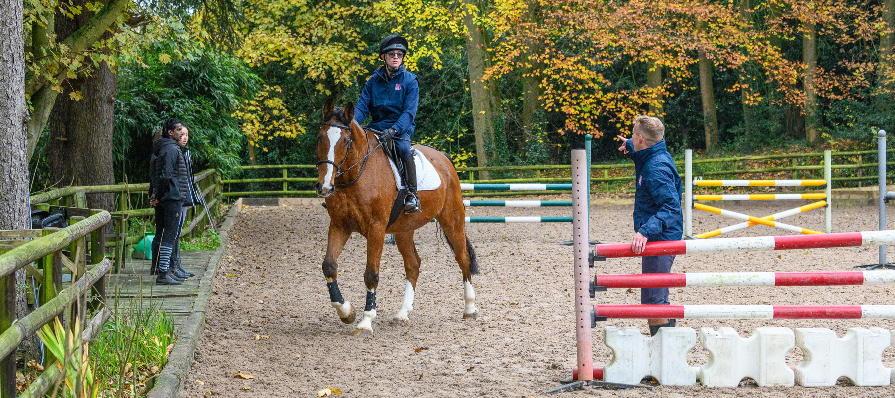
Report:
[[[0,229],[31,228],[22,4],[0,3]],[[24,285],[24,269],[15,273],[15,281],[17,286]],[[19,319],[28,315],[24,294],[16,295],[15,312]],[[34,352],[29,342],[33,339],[26,341],[25,347]]]

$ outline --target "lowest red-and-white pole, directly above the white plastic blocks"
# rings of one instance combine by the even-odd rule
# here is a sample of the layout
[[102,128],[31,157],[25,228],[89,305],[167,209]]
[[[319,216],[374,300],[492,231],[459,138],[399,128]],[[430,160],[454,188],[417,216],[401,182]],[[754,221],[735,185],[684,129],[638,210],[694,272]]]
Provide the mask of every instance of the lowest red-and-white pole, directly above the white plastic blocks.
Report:
[[610,319],[895,319],[895,306],[596,305]]

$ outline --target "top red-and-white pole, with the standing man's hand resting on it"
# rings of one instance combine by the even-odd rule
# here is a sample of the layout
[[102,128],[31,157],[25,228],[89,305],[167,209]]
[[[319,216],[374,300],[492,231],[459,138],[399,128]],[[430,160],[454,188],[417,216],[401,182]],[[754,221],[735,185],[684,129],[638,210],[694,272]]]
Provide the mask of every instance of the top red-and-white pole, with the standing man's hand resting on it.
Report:
[[760,250],[794,250],[823,247],[861,247],[895,245],[895,230],[845,232],[823,235],[792,235],[757,238],[717,238],[649,242],[635,255],[630,243],[597,245],[596,254],[606,257],[640,257],[648,255],[708,255],[742,253]]

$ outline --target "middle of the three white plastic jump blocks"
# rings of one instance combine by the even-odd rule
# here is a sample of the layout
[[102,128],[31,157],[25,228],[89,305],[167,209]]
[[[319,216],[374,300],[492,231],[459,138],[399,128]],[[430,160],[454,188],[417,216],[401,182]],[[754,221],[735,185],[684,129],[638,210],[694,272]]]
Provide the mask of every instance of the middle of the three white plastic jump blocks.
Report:
[[795,347],[792,330],[759,327],[752,337],[742,338],[731,327],[699,331],[709,360],[699,368],[699,379],[711,387],[736,387],[744,377],[760,386],[794,385],[795,375],[786,364],[786,353]]

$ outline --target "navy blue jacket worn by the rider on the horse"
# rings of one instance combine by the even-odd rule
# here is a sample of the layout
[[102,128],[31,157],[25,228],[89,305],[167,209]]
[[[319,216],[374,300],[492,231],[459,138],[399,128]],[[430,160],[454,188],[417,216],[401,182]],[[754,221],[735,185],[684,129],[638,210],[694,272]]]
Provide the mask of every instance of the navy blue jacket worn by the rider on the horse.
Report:
[[[410,138],[416,124],[416,108],[420,99],[420,84],[416,75],[405,71],[404,65],[388,78],[386,67],[376,70],[363,85],[361,99],[354,107],[354,120],[358,124],[369,115],[373,120],[370,128],[379,131],[394,128],[398,135]],[[407,144],[408,150],[410,148]]]

